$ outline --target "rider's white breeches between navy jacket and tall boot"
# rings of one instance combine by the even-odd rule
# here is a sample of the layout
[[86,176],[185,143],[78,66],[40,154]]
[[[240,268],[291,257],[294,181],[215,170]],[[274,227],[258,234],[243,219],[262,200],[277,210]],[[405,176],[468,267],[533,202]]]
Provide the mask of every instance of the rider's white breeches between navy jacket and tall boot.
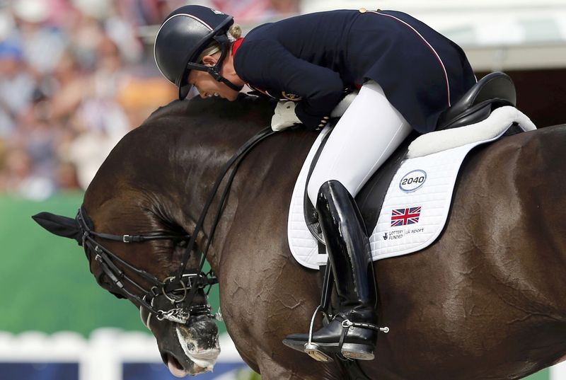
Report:
[[355,196],[411,130],[379,84],[364,84],[335,125],[313,170],[307,188],[313,205],[328,180],[340,181]]

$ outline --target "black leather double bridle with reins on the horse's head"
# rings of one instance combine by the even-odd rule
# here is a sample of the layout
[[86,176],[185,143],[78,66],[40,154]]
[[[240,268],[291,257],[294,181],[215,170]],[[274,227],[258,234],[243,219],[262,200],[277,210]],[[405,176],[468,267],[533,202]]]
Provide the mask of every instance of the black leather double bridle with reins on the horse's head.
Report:
[[[238,166],[240,165],[243,158],[253,149],[255,145],[261,142],[266,137],[271,136],[275,132],[272,131],[271,127],[266,127],[260,132],[255,134],[251,139],[243,144],[236,154],[234,154],[231,159],[224,165],[221,173],[216,178],[216,183],[209,193],[207,202],[204,204],[200,217],[195,225],[195,231],[192,234],[161,234],[161,233],[149,233],[145,235],[115,235],[115,234],[103,234],[100,232],[93,231],[94,225],[91,219],[86,214],[86,209],[81,206],[79,212],[76,215],[76,222],[81,229],[81,240],[86,256],[89,263],[92,259],[96,260],[100,269],[108,276],[112,284],[120,289],[122,294],[113,293],[116,296],[121,296],[120,298],[127,298],[140,306],[143,306],[150,313],[155,314],[159,321],[166,319],[168,321],[176,323],[188,323],[190,316],[198,314],[210,314],[211,306],[207,303],[207,297],[205,297],[204,304],[193,305],[195,295],[199,289],[204,289],[204,287],[212,287],[212,285],[218,283],[214,272],[210,270],[208,273],[203,272],[204,263],[206,263],[207,253],[214,237],[214,231],[216,231],[216,226],[219,223],[222,212],[224,211],[224,206],[228,197],[229,190],[231,189],[231,184],[233,178],[236,175]],[[208,211],[216,192],[220,187],[221,182],[226,177],[226,174],[232,168],[229,178],[226,181],[224,191],[220,197],[218,208],[216,209],[216,215],[212,223],[212,229],[208,236],[206,246],[204,250],[200,251],[200,265],[198,268],[193,270],[187,270],[186,266],[190,260],[193,251],[197,251],[196,240],[202,226],[204,224],[204,219],[207,217]],[[144,243],[145,241],[152,240],[171,240],[174,242],[187,242],[187,247],[185,253],[183,253],[183,258],[181,259],[179,268],[174,275],[166,277],[164,280],[159,280],[151,273],[141,270],[134,265],[127,263],[125,260],[120,258],[115,253],[112,253],[108,248],[105,248],[96,238],[110,241],[120,241],[122,243]],[[120,269],[120,266],[126,267],[128,270],[134,272],[138,277],[143,278],[146,282],[151,284],[149,289],[146,289],[136,280],[129,277],[124,270]],[[127,287],[124,286],[125,282],[132,284],[139,292],[141,296],[134,292],[129,291]],[[208,294],[208,292],[206,292]],[[170,304],[169,309],[163,310],[156,306],[156,300],[165,298],[167,302],[158,304]]]

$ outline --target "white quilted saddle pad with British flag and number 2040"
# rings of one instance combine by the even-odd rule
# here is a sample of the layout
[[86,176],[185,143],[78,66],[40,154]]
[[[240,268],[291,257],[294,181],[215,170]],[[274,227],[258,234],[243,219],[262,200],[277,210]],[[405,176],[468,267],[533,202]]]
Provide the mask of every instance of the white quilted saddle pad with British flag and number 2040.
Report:
[[[474,146],[501,137],[513,122],[525,131],[536,129],[529,117],[508,106],[497,108],[477,124],[431,132],[415,139],[389,185],[369,238],[374,260],[406,255],[429,246],[446,223],[463,159]],[[303,200],[308,168],[328,132],[329,127],[320,132],[308,153],[289,207],[289,248],[301,265],[312,269],[325,265],[327,255],[318,254],[316,238],[304,219]]]

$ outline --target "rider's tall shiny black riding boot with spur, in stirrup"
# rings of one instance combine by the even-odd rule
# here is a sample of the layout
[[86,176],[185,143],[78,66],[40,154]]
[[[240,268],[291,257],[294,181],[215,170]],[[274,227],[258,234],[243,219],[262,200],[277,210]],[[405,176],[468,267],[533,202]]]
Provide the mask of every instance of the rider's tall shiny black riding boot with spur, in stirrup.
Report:
[[[308,334],[289,335],[283,343],[320,360],[329,358],[316,355],[316,351],[328,355],[342,353],[350,359],[374,359],[377,331],[360,325],[377,323],[374,267],[364,221],[352,195],[337,180],[320,186],[316,210],[340,308],[328,326],[313,333],[313,344],[305,347]],[[312,347],[316,347],[315,352]]]

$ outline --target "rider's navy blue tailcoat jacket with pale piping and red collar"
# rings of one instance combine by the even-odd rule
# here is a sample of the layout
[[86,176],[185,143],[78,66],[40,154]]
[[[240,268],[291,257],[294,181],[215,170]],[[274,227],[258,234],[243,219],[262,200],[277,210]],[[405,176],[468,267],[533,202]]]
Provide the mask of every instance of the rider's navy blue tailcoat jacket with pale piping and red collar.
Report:
[[458,45],[397,11],[328,11],[260,25],[236,50],[234,68],[250,86],[298,101],[308,129],[345,89],[373,79],[413,128],[430,132],[475,84]]

